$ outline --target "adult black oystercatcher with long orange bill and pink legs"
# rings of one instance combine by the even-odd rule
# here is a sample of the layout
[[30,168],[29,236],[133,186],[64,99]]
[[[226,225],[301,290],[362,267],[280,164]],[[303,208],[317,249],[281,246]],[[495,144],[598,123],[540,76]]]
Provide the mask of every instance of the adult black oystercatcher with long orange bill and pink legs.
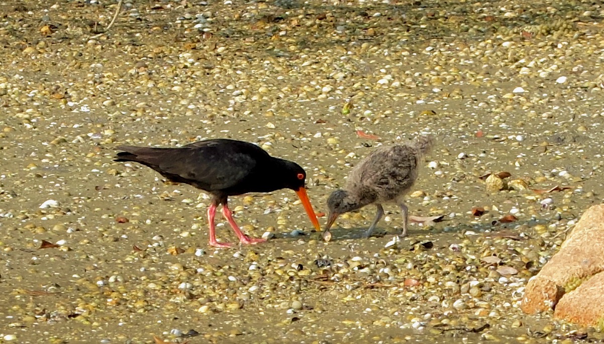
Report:
[[158,171],[177,183],[186,183],[211,194],[208,208],[210,245],[230,247],[216,241],[214,216],[222,204],[222,214],[243,244],[265,241],[249,238],[239,229],[227,197],[245,193],[269,193],[284,188],[292,189],[300,197],[310,221],[320,230],[319,221],[310,205],[304,188],[306,172],[295,162],[274,158],[265,150],[249,142],[231,139],[210,139],[180,148],[153,148],[123,145],[115,161],[134,161]]

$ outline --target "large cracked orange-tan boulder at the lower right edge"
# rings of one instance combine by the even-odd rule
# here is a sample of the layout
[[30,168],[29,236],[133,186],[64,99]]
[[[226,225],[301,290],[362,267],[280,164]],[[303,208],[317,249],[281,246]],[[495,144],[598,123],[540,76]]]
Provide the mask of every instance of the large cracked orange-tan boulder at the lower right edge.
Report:
[[521,309],[556,308],[554,315],[582,325],[604,316],[604,204],[587,209],[538,275],[528,281]]

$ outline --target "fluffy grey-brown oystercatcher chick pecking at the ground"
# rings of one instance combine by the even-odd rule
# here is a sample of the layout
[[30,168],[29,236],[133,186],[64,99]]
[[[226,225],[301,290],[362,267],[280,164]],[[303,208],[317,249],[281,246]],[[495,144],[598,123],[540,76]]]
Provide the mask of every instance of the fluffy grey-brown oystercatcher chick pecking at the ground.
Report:
[[329,217],[323,238],[329,240],[329,229],[340,214],[374,204],[377,215],[365,233],[370,237],[377,221],[384,215],[382,203],[396,203],[400,206],[403,212],[403,231],[400,237],[405,237],[409,220],[408,208],[402,198],[413,186],[420,158],[429,152],[431,146],[432,139],[429,136],[418,136],[410,144],[379,147],[359,162],[350,171],[345,189],[333,191],[327,200]]

